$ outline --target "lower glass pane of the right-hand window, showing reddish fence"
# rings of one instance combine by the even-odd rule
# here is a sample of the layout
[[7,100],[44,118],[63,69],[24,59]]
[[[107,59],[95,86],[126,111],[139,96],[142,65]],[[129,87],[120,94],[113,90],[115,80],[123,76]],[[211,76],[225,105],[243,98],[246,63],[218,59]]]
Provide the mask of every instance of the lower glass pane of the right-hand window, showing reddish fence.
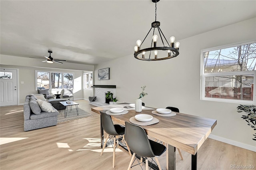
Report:
[[254,75],[205,77],[205,97],[253,101]]

